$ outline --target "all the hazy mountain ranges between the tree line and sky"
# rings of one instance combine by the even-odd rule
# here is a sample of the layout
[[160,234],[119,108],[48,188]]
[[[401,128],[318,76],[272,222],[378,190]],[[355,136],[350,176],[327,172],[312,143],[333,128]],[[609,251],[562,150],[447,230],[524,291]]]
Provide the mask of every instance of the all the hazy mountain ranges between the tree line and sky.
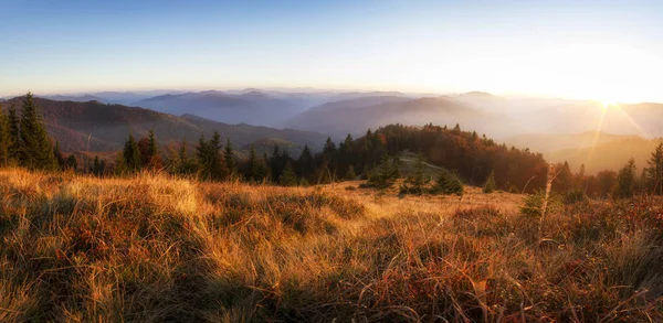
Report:
[[[12,103],[15,99],[3,105]],[[606,107],[598,101],[502,97],[483,91],[446,96],[256,88],[104,91],[56,95],[38,103],[50,131],[67,150],[87,149],[90,133],[91,150],[118,149],[129,130],[140,137],[151,127],[162,141],[182,137],[194,141],[201,132],[219,130],[236,141],[236,147],[257,141],[260,149],[266,150],[275,142],[296,149],[304,143],[315,146],[327,134],[340,140],[347,133],[362,134],[389,123],[432,122],[460,123],[463,130],[529,148],[546,159],[568,160],[572,168],[586,163],[588,171],[598,171],[621,166],[630,154],[639,162],[644,151],[651,150],[651,139],[663,137],[662,104]]]

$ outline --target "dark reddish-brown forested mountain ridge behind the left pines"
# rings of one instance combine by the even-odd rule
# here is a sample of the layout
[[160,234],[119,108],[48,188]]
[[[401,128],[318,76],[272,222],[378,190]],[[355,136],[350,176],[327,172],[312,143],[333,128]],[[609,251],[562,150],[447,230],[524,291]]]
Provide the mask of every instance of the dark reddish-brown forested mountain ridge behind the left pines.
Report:
[[[3,103],[20,107],[23,97]],[[191,144],[201,133],[208,138],[219,131],[223,140],[230,138],[235,147],[244,147],[255,141],[278,139],[293,146],[322,146],[326,136],[301,130],[272,129],[250,125],[228,125],[186,115],[177,117],[137,107],[106,105],[99,101],[56,101],[34,98],[44,116],[50,134],[61,143],[63,151],[109,151],[119,150],[129,133],[145,137],[155,129],[157,139],[167,144],[186,138]]]

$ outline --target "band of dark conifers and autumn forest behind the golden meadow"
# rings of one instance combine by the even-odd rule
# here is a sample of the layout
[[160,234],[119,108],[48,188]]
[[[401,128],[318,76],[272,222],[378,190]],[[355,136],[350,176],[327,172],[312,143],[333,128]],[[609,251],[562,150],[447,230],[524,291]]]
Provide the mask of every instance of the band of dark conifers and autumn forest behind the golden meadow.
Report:
[[[327,138],[322,151],[314,152],[305,146],[297,157],[275,144],[270,154],[261,155],[252,146],[246,158],[239,158],[230,139],[223,142],[219,132],[211,138],[201,134],[194,146],[182,139],[162,150],[154,130],[139,140],[128,133],[113,163],[95,157],[94,162],[87,161],[86,166],[78,170],[76,158],[63,155],[57,142],[50,140],[32,94],[25,96],[20,115],[13,106],[7,114],[0,109],[0,165],[31,170],[72,169],[98,176],[152,170],[203,181],[240,180],[284,186],[365,179],[367,185],[385,187],[401,176],[399,155],[410,151],[421,161],[441,169],[438,179],[441,186],[431,187],[433,191],[456,190],[457,179],[470,185],[483,185],[486,193],[495,190],[533,192],[545,186],[548,175],[548,163],[540,153],[497,144],[485,134],[461,130],[460,125],[453,128],[432,123],[423,127],[390,125],[375,131],[369,129],[358,139],[348,134],[338,144]],[[420,166],[418,162],[417,168]],[[639,175],[633,161],[619,172],[602,171],[596,175],[586,175],[583,168],[572,174],[568,163],[556,165],[556,170],[552,186],[556,192],[582,191],[597,197],[628,197],[639,192],[660,195],[663,194],[663,143]],[[412,184],[414,191],[423,192],[419,171],[406,182]],[[402,189],[410,191],[407,186]]]

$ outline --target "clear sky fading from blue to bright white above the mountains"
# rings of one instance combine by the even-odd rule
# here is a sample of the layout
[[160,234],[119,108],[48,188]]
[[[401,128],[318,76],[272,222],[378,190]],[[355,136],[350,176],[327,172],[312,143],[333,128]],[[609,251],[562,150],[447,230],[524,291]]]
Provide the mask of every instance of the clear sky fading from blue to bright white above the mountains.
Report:
[[320,89],[663,101],[663,1],[0,0],[0,96]]

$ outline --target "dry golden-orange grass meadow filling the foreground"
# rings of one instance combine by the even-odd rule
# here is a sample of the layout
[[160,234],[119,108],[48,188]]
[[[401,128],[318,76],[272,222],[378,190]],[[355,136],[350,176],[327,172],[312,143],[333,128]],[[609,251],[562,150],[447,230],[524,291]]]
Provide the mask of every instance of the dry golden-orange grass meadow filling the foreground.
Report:
[[663,320],[661,201],[357,186],[0,170],[0,321]]

